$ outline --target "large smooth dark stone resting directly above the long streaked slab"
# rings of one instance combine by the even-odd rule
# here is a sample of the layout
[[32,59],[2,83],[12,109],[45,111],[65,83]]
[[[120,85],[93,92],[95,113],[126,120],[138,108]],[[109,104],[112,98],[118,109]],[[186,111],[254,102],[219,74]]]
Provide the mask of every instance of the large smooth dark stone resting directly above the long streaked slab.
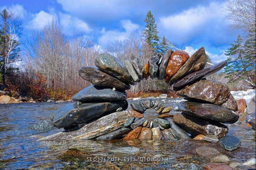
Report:
[[66,127],[91,122],[103,115],[115,112],[119,107],[124,106],[122,102],[102,102],[102,103],[68,103],[53,113],[53,125],[55,127]]

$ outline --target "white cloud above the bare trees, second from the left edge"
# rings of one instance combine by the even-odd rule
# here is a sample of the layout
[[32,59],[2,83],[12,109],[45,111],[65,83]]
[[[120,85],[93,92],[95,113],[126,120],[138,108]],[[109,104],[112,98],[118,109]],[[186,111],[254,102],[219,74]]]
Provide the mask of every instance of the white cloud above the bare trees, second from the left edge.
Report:
[[49,14],[43,10],[41,10],[39,13],[32,15],[33,19],[29,22],[28,27],[29,28],[35,28],[35,29],[41,29],[45,25],[47,25],[49,22],[52,21],[52,19],[57,19],[56,14]]

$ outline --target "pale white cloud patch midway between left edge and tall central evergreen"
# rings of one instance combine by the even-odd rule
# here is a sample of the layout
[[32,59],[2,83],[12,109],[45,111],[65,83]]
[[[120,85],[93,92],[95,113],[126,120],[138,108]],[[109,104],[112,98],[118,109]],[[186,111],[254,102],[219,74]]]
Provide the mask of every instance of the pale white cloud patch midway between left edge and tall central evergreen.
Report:
[[81,19],[76,17],[72,17],[68,14],[60,13],[60,22],[65,28],[66,31],[72,33],[72,31],[81,31],[81,32],[88,32],[90,28],[87,23],[83,22]]

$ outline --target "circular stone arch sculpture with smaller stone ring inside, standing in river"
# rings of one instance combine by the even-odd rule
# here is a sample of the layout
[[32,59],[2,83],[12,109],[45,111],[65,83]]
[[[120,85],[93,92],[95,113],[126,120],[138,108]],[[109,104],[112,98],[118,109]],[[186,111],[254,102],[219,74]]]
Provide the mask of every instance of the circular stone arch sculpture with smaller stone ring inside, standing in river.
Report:
[[[144,62],[143,62],[144,63]],[[227,64],[222,61],[204,68],[204,47],[191,57],[184,51],[169,49],[164,56],[154,53],[145,64],[131,55],[124,64],[116,57],[103,53],[95,66],[79,69],[79,75],[93,85],[72,97],[53,113],[53,125],[65,131],[39,140],[69,139],[190,139],[197,135],[214,135],[221,139],[228,133],[222,123],[235,123],[237,104],[227,85],[206,80]],[[165,80],[173,85],[186,101],[178,104],[182,113],[168,114],[172,109],[154,99],[131,103],[125,100],[125,90],[143,79]],[[153,121],[144,117],[147,109],[159,114]],[[171,119],[172,118],[172,119]]]

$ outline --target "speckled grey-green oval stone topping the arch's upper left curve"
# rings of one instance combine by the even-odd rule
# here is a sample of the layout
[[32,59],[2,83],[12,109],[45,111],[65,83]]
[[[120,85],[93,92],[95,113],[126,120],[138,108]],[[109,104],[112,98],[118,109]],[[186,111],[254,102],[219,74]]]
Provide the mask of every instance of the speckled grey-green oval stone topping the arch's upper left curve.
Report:
[[102,53],[95,59],[96,67],[128,84],[134,84],[124,64],[111,54]]

